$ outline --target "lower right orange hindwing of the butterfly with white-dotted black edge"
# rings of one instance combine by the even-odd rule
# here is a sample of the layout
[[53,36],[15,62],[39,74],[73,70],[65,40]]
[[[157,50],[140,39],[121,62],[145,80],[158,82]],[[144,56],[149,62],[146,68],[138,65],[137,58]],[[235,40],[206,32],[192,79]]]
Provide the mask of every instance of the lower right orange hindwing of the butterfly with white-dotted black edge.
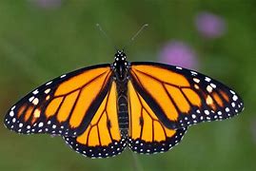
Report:
[[137,153],[165,152],[180,142],[187,127],[167,128],[128,82],[128,146]]

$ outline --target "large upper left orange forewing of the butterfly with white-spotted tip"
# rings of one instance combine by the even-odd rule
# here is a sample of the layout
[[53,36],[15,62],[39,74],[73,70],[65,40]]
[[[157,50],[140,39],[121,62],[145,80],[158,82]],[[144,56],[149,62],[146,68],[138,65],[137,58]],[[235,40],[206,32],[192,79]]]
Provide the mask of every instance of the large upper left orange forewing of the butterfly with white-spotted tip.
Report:
[[109,65],[85,67],[41,85],[14,104],[5,118],[18,133],[81,134],[111,83]]

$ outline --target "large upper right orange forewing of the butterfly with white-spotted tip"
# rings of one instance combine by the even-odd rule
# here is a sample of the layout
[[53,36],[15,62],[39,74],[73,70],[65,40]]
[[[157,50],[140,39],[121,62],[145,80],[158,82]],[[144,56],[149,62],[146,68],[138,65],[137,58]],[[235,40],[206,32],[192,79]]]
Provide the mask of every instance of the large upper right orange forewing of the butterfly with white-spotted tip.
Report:
[[132,84],[157,118],[169,128],[230,118],[243,110],[226,85],[179,66],[131,63]]

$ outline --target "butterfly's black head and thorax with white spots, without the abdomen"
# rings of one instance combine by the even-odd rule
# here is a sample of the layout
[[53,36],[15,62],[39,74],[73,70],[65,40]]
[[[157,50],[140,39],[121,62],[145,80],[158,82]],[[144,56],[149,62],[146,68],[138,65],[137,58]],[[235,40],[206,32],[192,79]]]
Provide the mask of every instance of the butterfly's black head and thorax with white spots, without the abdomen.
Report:
[[119,81],[124,81],[128,74],[128,61],[127,55],[124,50],[117,50],[114,55],[114,63],[112,66],[116,79]]

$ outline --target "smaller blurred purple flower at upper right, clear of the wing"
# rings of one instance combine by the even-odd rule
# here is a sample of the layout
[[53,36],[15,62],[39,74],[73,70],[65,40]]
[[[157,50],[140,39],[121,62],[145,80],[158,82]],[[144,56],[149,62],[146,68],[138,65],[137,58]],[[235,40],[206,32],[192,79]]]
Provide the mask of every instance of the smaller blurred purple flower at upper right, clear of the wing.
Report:
[[210,12],[201,12],[196,16],[195,24],[200,34],[206,38],[218,38],[226,31],[225,20]]

